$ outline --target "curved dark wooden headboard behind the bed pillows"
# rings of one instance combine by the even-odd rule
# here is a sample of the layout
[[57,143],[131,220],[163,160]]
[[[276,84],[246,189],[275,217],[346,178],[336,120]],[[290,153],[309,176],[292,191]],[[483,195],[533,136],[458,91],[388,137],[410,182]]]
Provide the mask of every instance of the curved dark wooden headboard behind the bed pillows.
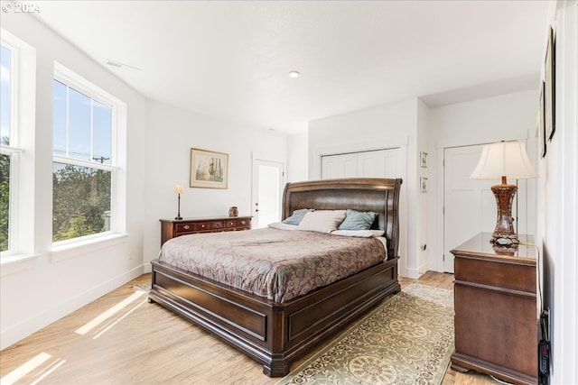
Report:
[[387,258],[399,250],[399,191],[402,179],[353,178],[322,179],[287,183],[283,196],[283,219],[294,210],[373,211],[378,218],[372,228],[384,230]]

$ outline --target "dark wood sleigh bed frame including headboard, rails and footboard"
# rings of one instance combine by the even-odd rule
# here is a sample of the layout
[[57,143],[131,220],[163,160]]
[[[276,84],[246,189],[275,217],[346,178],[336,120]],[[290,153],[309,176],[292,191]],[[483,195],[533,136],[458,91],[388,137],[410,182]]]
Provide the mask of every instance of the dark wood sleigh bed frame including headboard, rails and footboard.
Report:
[[381,299],[400,291],[397,281],[401,179],[325,179],[287,183],[283,218],[300,208],[374,211],[385,230],[388,260],[288,302],[277,303],[152,261],[149,302],[157,302],[282,377],[303,353],[350,324]]

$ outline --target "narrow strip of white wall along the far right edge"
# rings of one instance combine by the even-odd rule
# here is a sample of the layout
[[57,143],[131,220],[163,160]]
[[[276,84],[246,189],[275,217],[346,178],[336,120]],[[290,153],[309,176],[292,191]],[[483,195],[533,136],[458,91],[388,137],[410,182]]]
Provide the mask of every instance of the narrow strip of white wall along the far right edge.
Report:
[[578,383],[578,3],[558,1],[551,21],[556,35],[556,126],[538,168],[541,175],[538,244],[542,244],[544,258],[544,305],[552,312],[551,383],[575,384]]

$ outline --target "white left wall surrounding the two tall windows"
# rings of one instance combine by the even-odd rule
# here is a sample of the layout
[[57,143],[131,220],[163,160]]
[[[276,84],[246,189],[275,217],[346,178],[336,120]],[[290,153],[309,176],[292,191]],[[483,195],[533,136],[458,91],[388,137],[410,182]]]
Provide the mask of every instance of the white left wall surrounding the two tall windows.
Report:
[[[2,27],[36,50],[35,121],[25,137],[23,163],[31,198],[29,255],[3,261],[0,279],[1,348],[142,274],[144,222],[144,113],[146,101],[106,69],[28,14],[2,14]],[[97,245],[51,250],[52,79],[59,61],[126,103],[126,236]],[[30,109],[33,114],[33,108]],[[123,204],[123,203],[121,203]],[[30,214],[30,215],[28,215]]]

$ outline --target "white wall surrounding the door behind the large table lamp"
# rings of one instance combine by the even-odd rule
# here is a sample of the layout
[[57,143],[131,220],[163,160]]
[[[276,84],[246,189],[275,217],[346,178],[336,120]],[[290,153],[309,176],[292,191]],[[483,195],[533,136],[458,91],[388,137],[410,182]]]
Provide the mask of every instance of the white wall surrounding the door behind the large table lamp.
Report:
[[[537,85],[536,85],[537,87]],[[443,150],[472,144],[527,140],[528,156],[536,166],[538,91],[489,97],[429,110],[429,157],[432,170],[428,209],[429,270],[443,271]],[[498,182],[498,181],[497,181]],[[536,234],[536,181],[528,181],[529,234]]]

